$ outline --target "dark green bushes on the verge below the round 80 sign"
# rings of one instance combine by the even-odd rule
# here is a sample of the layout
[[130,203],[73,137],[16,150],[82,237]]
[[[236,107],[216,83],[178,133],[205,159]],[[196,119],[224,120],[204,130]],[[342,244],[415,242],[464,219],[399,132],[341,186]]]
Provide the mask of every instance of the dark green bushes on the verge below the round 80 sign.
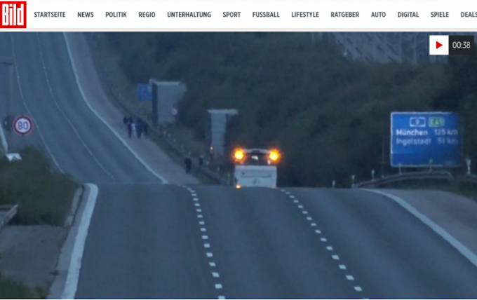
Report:
[[39,149],[25,147],[20,156],[21,161],[0,159],[0,205],[18,204],[11,223],[63,226],[79,182],[53,171]]

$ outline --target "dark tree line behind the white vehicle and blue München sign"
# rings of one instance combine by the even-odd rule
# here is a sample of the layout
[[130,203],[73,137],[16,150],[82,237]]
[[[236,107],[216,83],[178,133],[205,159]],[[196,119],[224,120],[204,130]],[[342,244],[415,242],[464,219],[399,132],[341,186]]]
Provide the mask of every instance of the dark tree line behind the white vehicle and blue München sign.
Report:
[[348,185],[351,174],[392,172],[392,111],[459,112],[464,151],[477,158],[475,55],[417,66],[358,62],[332,41],[312,45],[306,33],[112,32],[107,40],[132,84],[187,84],[179,117],[198,137],[207,109],[238,109],[228,146],[278,146],[282,185]]

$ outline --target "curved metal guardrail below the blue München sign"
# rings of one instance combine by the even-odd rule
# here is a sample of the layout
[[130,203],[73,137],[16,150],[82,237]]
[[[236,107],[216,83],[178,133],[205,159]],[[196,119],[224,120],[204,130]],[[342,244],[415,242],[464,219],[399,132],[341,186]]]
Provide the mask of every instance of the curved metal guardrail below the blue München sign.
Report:
[[[390,175],[379,179],[371,179],[367,182],[359,182],[352,184],[355,188],[377,188],[387,186],[388,184],[395,184],[398,182],[415,181],[415,180],[445,180],[448,182],[455,182],[454,177],[448,171],[423,171],[423,172],[408,172],[396,175]],[[477,176],[476,176],[477,182]]]

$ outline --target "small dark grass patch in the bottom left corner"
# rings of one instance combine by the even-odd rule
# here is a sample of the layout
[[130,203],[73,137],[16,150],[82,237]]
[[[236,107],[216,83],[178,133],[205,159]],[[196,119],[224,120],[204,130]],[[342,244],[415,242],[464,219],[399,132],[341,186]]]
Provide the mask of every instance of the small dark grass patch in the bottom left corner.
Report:
[[0,299],[46,299],[47,296],[48,292],[44,289],[32,289],[0,274]]

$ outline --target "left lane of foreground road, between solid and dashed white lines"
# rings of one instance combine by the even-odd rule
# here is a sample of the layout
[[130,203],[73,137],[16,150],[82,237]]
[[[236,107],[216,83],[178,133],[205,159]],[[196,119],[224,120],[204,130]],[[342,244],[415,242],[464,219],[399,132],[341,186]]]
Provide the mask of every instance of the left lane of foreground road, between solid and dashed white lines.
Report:
[[76,299],[217,299],[186,189],[100,186],[90,226]]

